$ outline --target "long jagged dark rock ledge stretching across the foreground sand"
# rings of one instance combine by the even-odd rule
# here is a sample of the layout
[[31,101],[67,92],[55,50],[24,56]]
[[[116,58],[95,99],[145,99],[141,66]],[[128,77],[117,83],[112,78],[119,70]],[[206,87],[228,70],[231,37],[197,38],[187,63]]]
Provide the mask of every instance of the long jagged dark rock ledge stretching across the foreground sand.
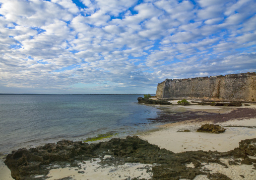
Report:
[[[209,179],[230,179],[221,173],[210,173],[209,170],[202,168],[204,166],[202,163],[213,162],[227,167],[220,161],[221,158],[237,158],[237,162],[239,159],[244,159],[240,160],[242,164],[254,164],[255,168],[256,159],[247,157],[255,153],[256,138],[243,140],[239,142],[239,147],[228,152],[199,150],[173,153],[160,149],[138,136],[127,136],[126,139],[112,138],[108,142],[98,144],[62,140],[36,148],[18,149],[8,154],[5,164],[11,169],[12,177],[26,180],[35,179],[35,175],[42,174],[43,177],[36,179],[46,179],[47,173],[55,165],[65,167],[64,164],[70,163],[71,166],[78,167],[78,163],[83,160],[92,160],[96,157],[101,158],[103,166],[126,162],[157,164],[152,167],[152,180],[194,179],[199,174],[205,174]],[[104,159],[104,155],[111,155],[111,158]],[[186,167],[186,164],[191,162],[195,168]],[[72,177],[62,178],[64,179],[72,179]]]

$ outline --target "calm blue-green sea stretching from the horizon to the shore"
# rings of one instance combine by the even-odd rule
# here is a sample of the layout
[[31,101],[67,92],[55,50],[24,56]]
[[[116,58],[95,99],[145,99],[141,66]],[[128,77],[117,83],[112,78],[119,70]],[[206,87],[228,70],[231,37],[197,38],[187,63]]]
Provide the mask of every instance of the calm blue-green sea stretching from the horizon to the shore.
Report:
[[153,106],[141,95],[0,95],[0,152],[101,133],[132,135],[152,128]]

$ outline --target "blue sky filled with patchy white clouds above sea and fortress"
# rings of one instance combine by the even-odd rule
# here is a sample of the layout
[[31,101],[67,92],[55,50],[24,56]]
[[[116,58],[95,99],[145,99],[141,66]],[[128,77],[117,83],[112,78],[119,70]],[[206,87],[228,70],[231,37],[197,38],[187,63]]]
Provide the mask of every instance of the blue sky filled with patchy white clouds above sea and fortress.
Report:
[[0,0],[0,93],[156,93],[256,71],[254,0]]

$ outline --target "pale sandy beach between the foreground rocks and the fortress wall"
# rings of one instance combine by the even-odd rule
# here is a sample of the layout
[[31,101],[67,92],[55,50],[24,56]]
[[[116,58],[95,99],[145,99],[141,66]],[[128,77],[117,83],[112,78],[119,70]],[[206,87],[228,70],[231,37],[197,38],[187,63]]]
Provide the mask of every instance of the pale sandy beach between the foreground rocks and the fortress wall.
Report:
[[[223,116],[225,116],[227,113],[230,113],[230,111],[234,109],[255,109],[256,105],[241,106],[238,108],[221,108],[195,105],[184,106],[184,108],[193,110],[206,110],[211,112],[212,110],[222,111]],[[256,116],[255,113],[254,115]],[[144,140],[148,140],[152,144],[156,144],[161,148],[166,148],[167,150],[175,153],[189,150],[217,150],[220,152],[225,152],[238,147],[238,142],[241,140],[256,138],[256,117],[246,119],[241,119],[238,117],[237,119],[232,118],[231,120],[227,118],[224,121],[218,122],[220,119],[213,119],[212,117],[209,117],[208,119],[193,119],[164,124],[159,126],[160,130],[156,132],[145,133],[145,135],[140,135],[140,137]],[[218,124],[222,127],[225,127],[226,131],[221,134],[196,132],[197,129],[201,127],[201,125],[206,123]],[[190,130],[190,132],[177,132],[185,129]]]

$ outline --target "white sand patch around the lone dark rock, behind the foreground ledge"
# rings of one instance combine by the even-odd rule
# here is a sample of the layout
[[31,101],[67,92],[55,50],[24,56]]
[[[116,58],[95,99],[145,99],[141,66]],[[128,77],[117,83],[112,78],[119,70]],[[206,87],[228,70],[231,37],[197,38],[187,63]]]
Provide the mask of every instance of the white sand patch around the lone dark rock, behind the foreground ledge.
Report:
[[[220,152],[225,152],[238,147],[238,143],[241,140],[256,138],[256,128],[225,127],[226,131],[224,133],[210,134],[195,132],[196,129],[201,127],[200,123],[177,123],[177,126],[174,124],[169,128],[152,132],[150,135],[141,135],[140,138],[148,140],[151,144],[156,144],[160,148],[165,148],[175,153],[190,150],[217,150]],[[228,121],[219,124],[221,126],[231,124],[256,126],[256,118],[239,121],[234,120],[232,122]],[[177,132],[178,130],[184,129],[191,130],[191,132]]]

